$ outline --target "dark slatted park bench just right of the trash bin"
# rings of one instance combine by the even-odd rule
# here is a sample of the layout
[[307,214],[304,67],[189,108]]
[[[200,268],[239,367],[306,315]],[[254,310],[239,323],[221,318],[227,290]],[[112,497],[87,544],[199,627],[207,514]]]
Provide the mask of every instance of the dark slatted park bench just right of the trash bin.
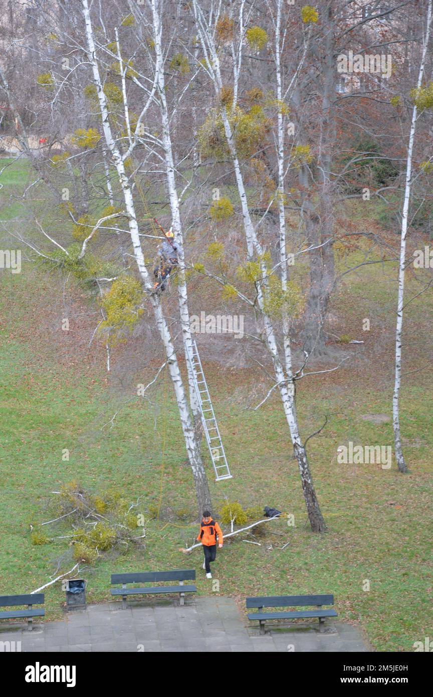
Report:
[[[185,593],[197,592],[195,585],[184,585],[183,582],[195,580],[195,569],[148,571],[141,574],[111,574],[111,585],[116,585],[116,583],[122,584],[122,588],[111,588],[111,595],[121,595],[122,607],[126,608],[126,599],[128,595],[160,595],[161,593],[179,593],[180,605],[183,605]],[[159,581],[179,581],[179,584],[127,588],[127,583],[158,583]]]

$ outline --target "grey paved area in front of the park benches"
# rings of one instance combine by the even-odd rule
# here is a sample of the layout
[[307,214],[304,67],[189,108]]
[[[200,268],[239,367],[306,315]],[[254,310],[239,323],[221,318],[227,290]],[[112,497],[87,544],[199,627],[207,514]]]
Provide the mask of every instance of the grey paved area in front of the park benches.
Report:
[[300,628],[260,636],[258,629],[246,627],[233,598],[196,597],[186,603],[144,601],[127,610],[114,602],[89,605],[60,622],[36,618],[31,632],[1,622],[0,646],[21,641],[23,652],[368,651],[360,632],[343,622],[328,620],[324,634]]

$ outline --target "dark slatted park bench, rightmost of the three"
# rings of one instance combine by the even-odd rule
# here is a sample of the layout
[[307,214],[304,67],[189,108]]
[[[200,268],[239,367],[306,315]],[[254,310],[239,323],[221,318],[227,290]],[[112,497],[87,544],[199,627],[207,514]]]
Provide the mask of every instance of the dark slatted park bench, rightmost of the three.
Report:
[[[247,608],[258,608],[258,612],[248,615],[249,620],[258,620],[260,634],[265,634],[267,620],[298,620],[300,618],[319,618],[319,631],[323,631],[326,617],[338,617],[333,608],[322,609],[323,605],[333,605],[333,595],[275,595],[262,598],[247,598]],[[315,610],[295,610],[262,612],[262,608],[310,607]]]

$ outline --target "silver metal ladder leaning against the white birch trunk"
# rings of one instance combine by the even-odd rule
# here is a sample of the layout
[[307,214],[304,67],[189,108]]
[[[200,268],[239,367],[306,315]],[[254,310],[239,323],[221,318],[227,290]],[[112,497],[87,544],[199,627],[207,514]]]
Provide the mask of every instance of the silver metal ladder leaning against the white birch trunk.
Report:
[[221,480],[231,479],[232,475],[228,468],[223,441],[221,441],[221,436],[219,435],[214,408],[212,406],[212,401],[210,401],[210,394],[207,389],[206,378],[203,373],[203,368],[201,367],[200,356],[198,355],[198,348],[195,341],[192,342],[192,351],[190,351],[188,347],[187,353],[194,379],[194,388],[200,406],[201,422],[203,424],[203,430],[205,431],[212,465],[214,466],[215,481],[221,482]]

